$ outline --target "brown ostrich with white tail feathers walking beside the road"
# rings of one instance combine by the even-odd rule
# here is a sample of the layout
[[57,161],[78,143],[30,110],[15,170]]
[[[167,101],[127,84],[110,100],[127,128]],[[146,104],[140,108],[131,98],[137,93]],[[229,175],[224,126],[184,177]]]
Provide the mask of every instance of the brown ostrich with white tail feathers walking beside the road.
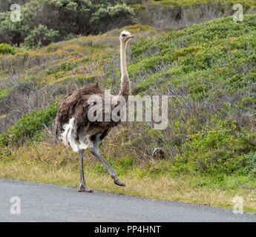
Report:
[[[126,69],[126,59],[125,50],[129,39],[134,38],[128,31],[122,31],[120,40],[120,59],[121,59],[121,88],[119,94],[116,96],[111,96],[114,99],[118,96],[123,96],[125,101],[128,101],[128,96],[130,95],[130,81],[128,78],[128,73]],[[120,121],[89,121],[88,110],[90,109],[90,104],[88,99],[90,96],[99,96],[102,99],[102,103],[105,101],[105,93],[99,87],[99,82],[96,84],[91,84],[86,87],[82,87],[75,90],[73,93],[69,93],[62,99],[59,103],[58,113],[56,115],[56,125],[55,125],[55,135],[56,138],[62,141],[66,146],[70,146],[75,152],[79,153],[79,164],[80,164],[80,187],[79,192],[93,192],[93,190],[87,187],[84,178],[83,170],[83,154],[85,149],[91,148],[91,153],[99,161],[102,162],[104,167],[110,173],[111,178],[114,179],[114,183],[119,186],[125,186],[116,175],[115,170],[105,161],[99,154],[98,144],[102,141],[105,136],[108,135],[112,127],[119,124]],[[102,110],[104,106],[102,106]],[[111,110],[113,110],[111,105]]]

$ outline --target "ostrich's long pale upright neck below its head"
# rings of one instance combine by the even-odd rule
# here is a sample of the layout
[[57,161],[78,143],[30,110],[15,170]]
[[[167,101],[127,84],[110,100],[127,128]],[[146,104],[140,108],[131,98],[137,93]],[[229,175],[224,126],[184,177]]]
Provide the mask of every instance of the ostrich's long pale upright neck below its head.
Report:
[[124,96],[125,99],[128,99],[128,96],[131,94],[130,92],[130,81],[126,68],[126,43],[121,41],[120,43],[120,58],[121,58],[121,87],[119,90],[119,95]]

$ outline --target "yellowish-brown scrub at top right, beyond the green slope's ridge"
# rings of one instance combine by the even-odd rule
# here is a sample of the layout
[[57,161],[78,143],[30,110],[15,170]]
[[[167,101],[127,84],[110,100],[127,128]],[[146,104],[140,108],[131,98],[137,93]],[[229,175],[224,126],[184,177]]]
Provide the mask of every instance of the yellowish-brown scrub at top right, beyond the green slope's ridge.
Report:
[[144,0],[132,7],[140,24],[176,30],[202,21],[231,16],[235,12],[234,4],[242,4],[244,14],[256,13],[255,0]]

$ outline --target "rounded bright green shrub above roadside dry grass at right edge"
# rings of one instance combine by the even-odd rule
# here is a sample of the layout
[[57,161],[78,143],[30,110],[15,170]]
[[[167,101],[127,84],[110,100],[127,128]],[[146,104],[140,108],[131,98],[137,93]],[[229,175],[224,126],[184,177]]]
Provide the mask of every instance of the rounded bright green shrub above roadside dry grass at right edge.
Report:
[[235,173],[248,163],[243,154],[256,150],[255,138],[256,133],[248,130],[238,132],[235,121],[218,121],[216,128],[194,134],[184,144],[184,154],[177,156],[173,169],[177,173]]

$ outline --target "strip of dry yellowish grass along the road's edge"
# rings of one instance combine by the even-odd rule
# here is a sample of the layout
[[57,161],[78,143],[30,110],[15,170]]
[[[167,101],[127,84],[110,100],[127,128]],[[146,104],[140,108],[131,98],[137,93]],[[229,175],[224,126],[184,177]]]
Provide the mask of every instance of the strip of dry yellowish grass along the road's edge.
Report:
[[[45,155],[41,157],[43,150]],[[48,148],[42,144],[21,147],[19,150],[13,150],[9,160],[0,161],[0,177],[78,187],[79,162],[76,155],[59,145]],[[241,196],[244,199],[244,210],[256,212],[254,189],[241,187],[221,190],[216,187],[201,187],[198,185],[202,181],[200,177],[192,176],[140,177],[137,174],[139,167],[133,167],[130,173],[121,174],[120,179],[125,182],[125,187],[118,187],[107,173],[96,172],[97,165],[99,162],[91,156],[85,158],[85,180],[88,187],[94,190],[228,208],[233,207],[234,196]]]

